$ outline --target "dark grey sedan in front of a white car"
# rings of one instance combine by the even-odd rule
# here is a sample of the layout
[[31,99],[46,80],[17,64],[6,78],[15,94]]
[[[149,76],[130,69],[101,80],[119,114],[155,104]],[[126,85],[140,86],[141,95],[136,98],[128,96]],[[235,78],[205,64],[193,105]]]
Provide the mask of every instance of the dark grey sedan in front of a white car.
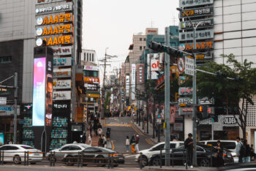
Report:
[[[112,151],[108,148],[102,147],[89,147],[82,151],[83,153],[83,163],[84,165],[88,164],[97,164],[98,166],[104,167],[108,163],[109,155],[113,158],[114,167],[117,167],[118,164],[124,164],[124,156],[121,153]],[[77,160],[75,159],[75,162]]]

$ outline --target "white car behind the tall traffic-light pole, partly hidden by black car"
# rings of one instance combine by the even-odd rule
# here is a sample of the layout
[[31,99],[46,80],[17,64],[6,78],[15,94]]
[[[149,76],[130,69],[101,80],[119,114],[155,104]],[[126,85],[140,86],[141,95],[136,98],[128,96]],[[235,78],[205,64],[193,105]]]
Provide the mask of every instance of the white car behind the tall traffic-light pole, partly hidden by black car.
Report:
[[[181,145],[184,145],[183,141],[170,141],[170,152],[173,148],[178,148]],[[140,151],[140,153],[142,153],[144,166],[148,165],[148,159],[150,159],[152,155],[160,153],[161,149],[165,149],[165,142],[159,142],[151,148]],[[165,150],[162,150],[162,153],[165,153]],[[140,161],[140,154],[135,156],[135,161]]]

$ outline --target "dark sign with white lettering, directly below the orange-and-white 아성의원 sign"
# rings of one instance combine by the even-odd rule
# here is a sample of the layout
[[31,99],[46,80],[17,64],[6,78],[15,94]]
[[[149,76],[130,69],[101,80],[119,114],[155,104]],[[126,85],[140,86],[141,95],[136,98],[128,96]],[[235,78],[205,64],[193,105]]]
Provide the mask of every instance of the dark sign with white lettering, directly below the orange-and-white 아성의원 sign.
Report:
[[191,29],[192,27],[195,28],[208,28],[214,26],[214,19],[206,19],[206,20],[192,20],[192,23],[190,21],[181,22],[179,24],[180,29]]

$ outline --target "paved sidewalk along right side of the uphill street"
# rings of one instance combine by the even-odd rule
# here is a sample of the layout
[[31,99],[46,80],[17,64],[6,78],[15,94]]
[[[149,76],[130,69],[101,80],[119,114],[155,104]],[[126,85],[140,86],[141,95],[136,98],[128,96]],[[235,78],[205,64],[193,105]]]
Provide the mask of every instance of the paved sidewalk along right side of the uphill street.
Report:
[[[134,126],[134,129],[138,134],[140,134],[140,135],[146,134],[146,122],[144,123],[144,129],[143,129],[142,121],[140,121],[140,126],[139,126],[139,123],[136,123],[136,118],[131,123]],[[153,142],[154,144],[158,143],[158,137],[156,136],[156,134],[155,134],[155,138],[152,138],[153,137],[153,126],[151,123],[148,124],[148,134],[146,134],[146,135],[150,136],[149,140],[151,142]],[[165,141],[165,136],[161,134],[160,142],[164,142],[164,141]]]

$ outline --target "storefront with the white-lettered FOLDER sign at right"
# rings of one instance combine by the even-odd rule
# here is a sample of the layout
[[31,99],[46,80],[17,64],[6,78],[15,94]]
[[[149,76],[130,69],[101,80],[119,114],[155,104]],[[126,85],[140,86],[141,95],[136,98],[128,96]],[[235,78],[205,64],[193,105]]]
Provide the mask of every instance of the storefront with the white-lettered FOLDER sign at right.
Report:
[[[221,123],[222,128],[214,130],[214,140],[236,140],[239,137],[239,126],[233,115],[219,115],[217,123]],[[199,140],[211,140],[211,118],[199,121],[197,130]]]

